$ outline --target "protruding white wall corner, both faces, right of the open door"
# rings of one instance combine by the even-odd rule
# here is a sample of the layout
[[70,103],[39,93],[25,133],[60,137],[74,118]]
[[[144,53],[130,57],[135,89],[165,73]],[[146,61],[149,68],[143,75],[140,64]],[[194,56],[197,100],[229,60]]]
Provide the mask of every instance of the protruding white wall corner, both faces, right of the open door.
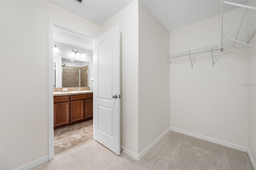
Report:
[[[101,24],[100,30],[117,24],[121,35],[121,146],[140,154],[170,127],[170,67],[164,58],[170,50],[170,32],[137,0]],[[159,93],[163,97],[156,100]]]

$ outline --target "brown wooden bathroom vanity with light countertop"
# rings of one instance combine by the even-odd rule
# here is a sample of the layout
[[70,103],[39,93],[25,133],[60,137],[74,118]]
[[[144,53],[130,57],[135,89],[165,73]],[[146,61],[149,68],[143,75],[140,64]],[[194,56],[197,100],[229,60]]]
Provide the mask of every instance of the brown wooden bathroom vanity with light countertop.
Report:
[[92,91],[54,93],[54,129],[87,121],[92,117]]

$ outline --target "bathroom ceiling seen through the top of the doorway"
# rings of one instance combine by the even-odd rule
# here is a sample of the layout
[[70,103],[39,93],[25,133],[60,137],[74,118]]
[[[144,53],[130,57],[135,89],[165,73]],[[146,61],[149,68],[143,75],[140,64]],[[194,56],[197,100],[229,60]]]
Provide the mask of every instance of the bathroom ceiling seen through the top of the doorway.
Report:
[[54,27],[54,41],[93,50],[92,40],[57,27]]

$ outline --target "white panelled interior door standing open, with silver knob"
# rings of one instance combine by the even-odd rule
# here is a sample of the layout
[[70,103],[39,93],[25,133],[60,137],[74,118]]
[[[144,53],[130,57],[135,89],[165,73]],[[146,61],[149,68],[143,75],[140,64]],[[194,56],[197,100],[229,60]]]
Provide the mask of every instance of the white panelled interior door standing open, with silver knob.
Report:
[[118,25],[94,39],[94,139],[120,155],[120,37]]

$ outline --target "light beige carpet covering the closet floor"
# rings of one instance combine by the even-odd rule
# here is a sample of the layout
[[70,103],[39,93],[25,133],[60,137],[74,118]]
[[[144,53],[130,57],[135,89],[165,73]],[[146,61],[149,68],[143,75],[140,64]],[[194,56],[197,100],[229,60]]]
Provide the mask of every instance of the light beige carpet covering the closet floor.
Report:
[[35,170],[182,169],[253,170],[246,152],[170,131],[140,161],[117,156],[93,140]]

